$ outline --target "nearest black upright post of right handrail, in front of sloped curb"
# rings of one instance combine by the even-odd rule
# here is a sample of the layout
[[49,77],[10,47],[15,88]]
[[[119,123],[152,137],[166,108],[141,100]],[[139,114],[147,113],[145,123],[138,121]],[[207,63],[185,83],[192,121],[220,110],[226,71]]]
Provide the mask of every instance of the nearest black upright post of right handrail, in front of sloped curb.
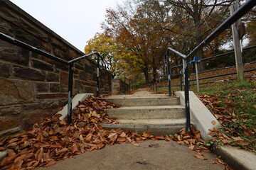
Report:
[[189,87],[188,87],[188,64],[187,61],[183,59],[183,72],[184,72],[184,93],[185,93],[185,108],[186,108],[186,131],[191,130],[191,120],[190,120],[190,107],[189,107]]

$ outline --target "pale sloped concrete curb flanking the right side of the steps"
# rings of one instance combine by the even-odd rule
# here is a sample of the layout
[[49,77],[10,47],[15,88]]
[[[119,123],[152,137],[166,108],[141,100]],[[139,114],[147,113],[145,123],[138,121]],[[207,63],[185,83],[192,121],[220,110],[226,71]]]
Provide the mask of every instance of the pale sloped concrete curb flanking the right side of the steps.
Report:
[[[185,95],[184,91],[176,91],[176,96],[181,98],[181,106],[185,106]],[[201,132],[201,137],[203,140],[208,142],[210,135],[208,135],[209,129],[218,129],[221,127],[218,120],[213,116],[212,113],[204,106],[204,104],[199,100],[196,94],[193,91],[189,91],[189,101],[190,101],[190,111],[191,111],[191,120],[194,123],[194,126],[197,130]],[[215,121],[213,125],[212,121]]]

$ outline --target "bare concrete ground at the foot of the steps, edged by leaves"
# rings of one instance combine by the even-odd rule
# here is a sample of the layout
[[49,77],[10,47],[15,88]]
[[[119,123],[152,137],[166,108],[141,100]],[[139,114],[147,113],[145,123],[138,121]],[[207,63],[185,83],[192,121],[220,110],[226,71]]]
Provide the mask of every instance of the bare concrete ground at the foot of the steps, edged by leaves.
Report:
[[196,152],[176,142],[146,141],[134,147],[131,144],[112,145],[95,152],[85,152],[74,158],[57,162],[54,166],[43,170],[85,169],[85,170],[139,170],[139,169],[224,169],[220,164],[213,164],[216,156],[203,153],[208,160],[197,159]]

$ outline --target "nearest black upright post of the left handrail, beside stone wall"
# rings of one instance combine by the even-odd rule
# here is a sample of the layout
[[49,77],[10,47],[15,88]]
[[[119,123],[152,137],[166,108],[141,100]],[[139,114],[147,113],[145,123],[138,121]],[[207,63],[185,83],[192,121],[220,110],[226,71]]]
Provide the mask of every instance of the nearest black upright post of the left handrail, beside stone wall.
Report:
[[69,64],[68,71],[68,124],[72,123],[72,96],[73,96],[73,63]]

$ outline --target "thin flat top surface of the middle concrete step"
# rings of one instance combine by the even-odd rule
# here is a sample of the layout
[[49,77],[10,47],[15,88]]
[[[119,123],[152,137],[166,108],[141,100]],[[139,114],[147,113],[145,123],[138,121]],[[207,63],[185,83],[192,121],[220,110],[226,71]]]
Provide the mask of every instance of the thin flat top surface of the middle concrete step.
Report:
[[117,110],[137,110],[137,109],[142,109],[142,110],[149,110],[149,109],[163,109],[163,108],[185,108],[184,106],[181,105],[172,105],[172,106],[122,106],[119,108],[110,108],[106,110],[112,110],[112,109],[117,109]]

